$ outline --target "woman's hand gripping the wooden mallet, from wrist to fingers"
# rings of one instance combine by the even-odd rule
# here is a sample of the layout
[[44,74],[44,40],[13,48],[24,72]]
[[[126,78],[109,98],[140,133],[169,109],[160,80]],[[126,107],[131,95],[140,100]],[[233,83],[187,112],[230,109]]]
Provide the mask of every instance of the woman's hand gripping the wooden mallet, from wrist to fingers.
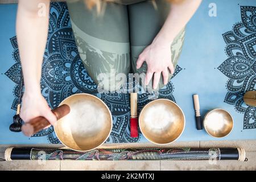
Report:
[[24,122],[29,122],[30,119],[42,116],[46,118],[51,125],[57,121],[56,116],[52,113],[47,101],[40,93],[24,93],[22,98],[22,107],[20,109],[20,118]]

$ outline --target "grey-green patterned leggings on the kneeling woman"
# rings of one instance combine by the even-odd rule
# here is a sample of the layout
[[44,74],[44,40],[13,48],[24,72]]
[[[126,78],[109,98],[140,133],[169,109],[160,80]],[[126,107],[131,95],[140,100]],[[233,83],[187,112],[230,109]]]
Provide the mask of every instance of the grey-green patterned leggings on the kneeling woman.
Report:
[[[68,2],[81,60],[96,84],[113,91],[119,89],[124,82],[123,79],[117,79],[118,73],[146,73],[146,63],[137,69],[136,61],[158,34],[170,10],[170,3],[164,0],[156,1],[156,5],[157,9],[152,6],[151,1],[132,5],[106,3],[104,15],[97,15],[96,9],[87,9],[82,0]],[[183,40],[184,30],[176,36],[171,46],[174,67],[179,59]],[[102,77],[102,73],[109,78]],[[169,79],[171,76],[170,74]],[[112,81],[110,85],[109,79]],[[159,88],[163,86],[161,76]]]

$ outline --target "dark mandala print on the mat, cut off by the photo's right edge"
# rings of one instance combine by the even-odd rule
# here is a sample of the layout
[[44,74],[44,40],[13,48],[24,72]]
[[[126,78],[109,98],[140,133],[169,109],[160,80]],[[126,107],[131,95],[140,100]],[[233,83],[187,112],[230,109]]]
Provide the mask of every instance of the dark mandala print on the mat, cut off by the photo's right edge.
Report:
[[241,6],[242,22],[223,34],[228,56],[218,69],[229,78],[225,101],[243,113],[243,129],[256,128],[256,109],[243,102],[243,94],[256,89],[256,7]]

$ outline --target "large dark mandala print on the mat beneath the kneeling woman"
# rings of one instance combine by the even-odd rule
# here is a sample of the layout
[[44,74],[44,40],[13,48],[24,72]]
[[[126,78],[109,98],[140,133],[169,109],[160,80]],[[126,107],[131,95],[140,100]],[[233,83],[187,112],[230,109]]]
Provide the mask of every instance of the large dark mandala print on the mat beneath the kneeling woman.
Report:
[[[22,69],[18,52],[16,37],[10,39],[14,48],[13,58],[15,64],[5,73],[7,77],[15,82],[14,101],[11,109],[16,109],[18,102],[19,82],[22,78]],[[179,66],[176,67],[174,76],[181,71]],[[113,130],[107,142],[138,142],[138,138],[130,137],[130,101],[129,94],[115,93],[98,93],[97,85],[90,78],[82,64],[77,51],[75,39],[73,36],[71,23],[68,14],[67,5],[64,2],[52,2],[49,16],[49,31],[46,51],[44,53],[42,80],[42,94],[46,98],[49,106],[57,107],[64,98],[76,93],[90,93],[101,98],[108,105],[113,115]],[[175,101],[172,96],[174,86],[169,82],[159,91],[159,98],[168,98]],[[155,93],[139,94],[139,109],[154,97]],[[36,133],[33,137],[47,136],[49,143],[60,143],[57,139],[53,127]]]

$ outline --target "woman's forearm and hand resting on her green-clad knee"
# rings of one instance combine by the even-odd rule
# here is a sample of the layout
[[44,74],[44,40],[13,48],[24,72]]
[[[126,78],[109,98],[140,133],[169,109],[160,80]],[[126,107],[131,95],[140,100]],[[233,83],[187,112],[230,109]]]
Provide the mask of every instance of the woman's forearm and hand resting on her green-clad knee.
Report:
[[199,7],[201,0],[173,2],[161,30],[156,35],[150,46],[146,47],[139,55],[137,69],[141,68],[144,61],[147,63],[145,84],[148,85],[152,76],[153,88],[158,87],[161,73],[163,82],[168,82],[168,70],[173,74],[174,65],[171,60],[171,44],[176,35],[185,27],[189,19]]

